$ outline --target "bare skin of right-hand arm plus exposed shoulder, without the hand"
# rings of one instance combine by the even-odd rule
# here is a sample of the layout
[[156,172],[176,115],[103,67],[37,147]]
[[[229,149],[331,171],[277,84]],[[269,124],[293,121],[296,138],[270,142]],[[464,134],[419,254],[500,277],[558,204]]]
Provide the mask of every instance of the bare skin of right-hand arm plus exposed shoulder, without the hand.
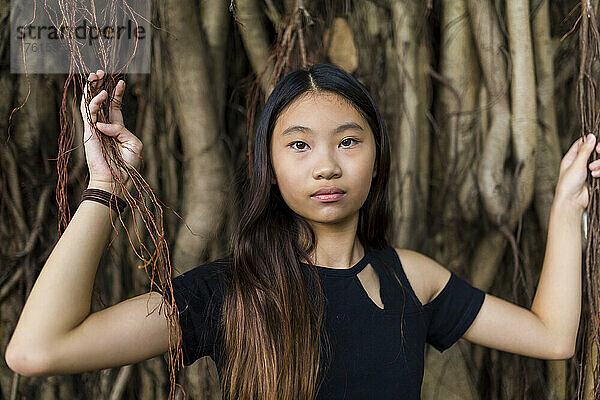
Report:
[[[555,199],[544,266],[531,309],[486,293],[463,338],[540,359],[573,355],[581,309],[581,216],[581,211]],[[417,294],[433,300],[448,283],[450,271],[416,251],[396,251]]]

